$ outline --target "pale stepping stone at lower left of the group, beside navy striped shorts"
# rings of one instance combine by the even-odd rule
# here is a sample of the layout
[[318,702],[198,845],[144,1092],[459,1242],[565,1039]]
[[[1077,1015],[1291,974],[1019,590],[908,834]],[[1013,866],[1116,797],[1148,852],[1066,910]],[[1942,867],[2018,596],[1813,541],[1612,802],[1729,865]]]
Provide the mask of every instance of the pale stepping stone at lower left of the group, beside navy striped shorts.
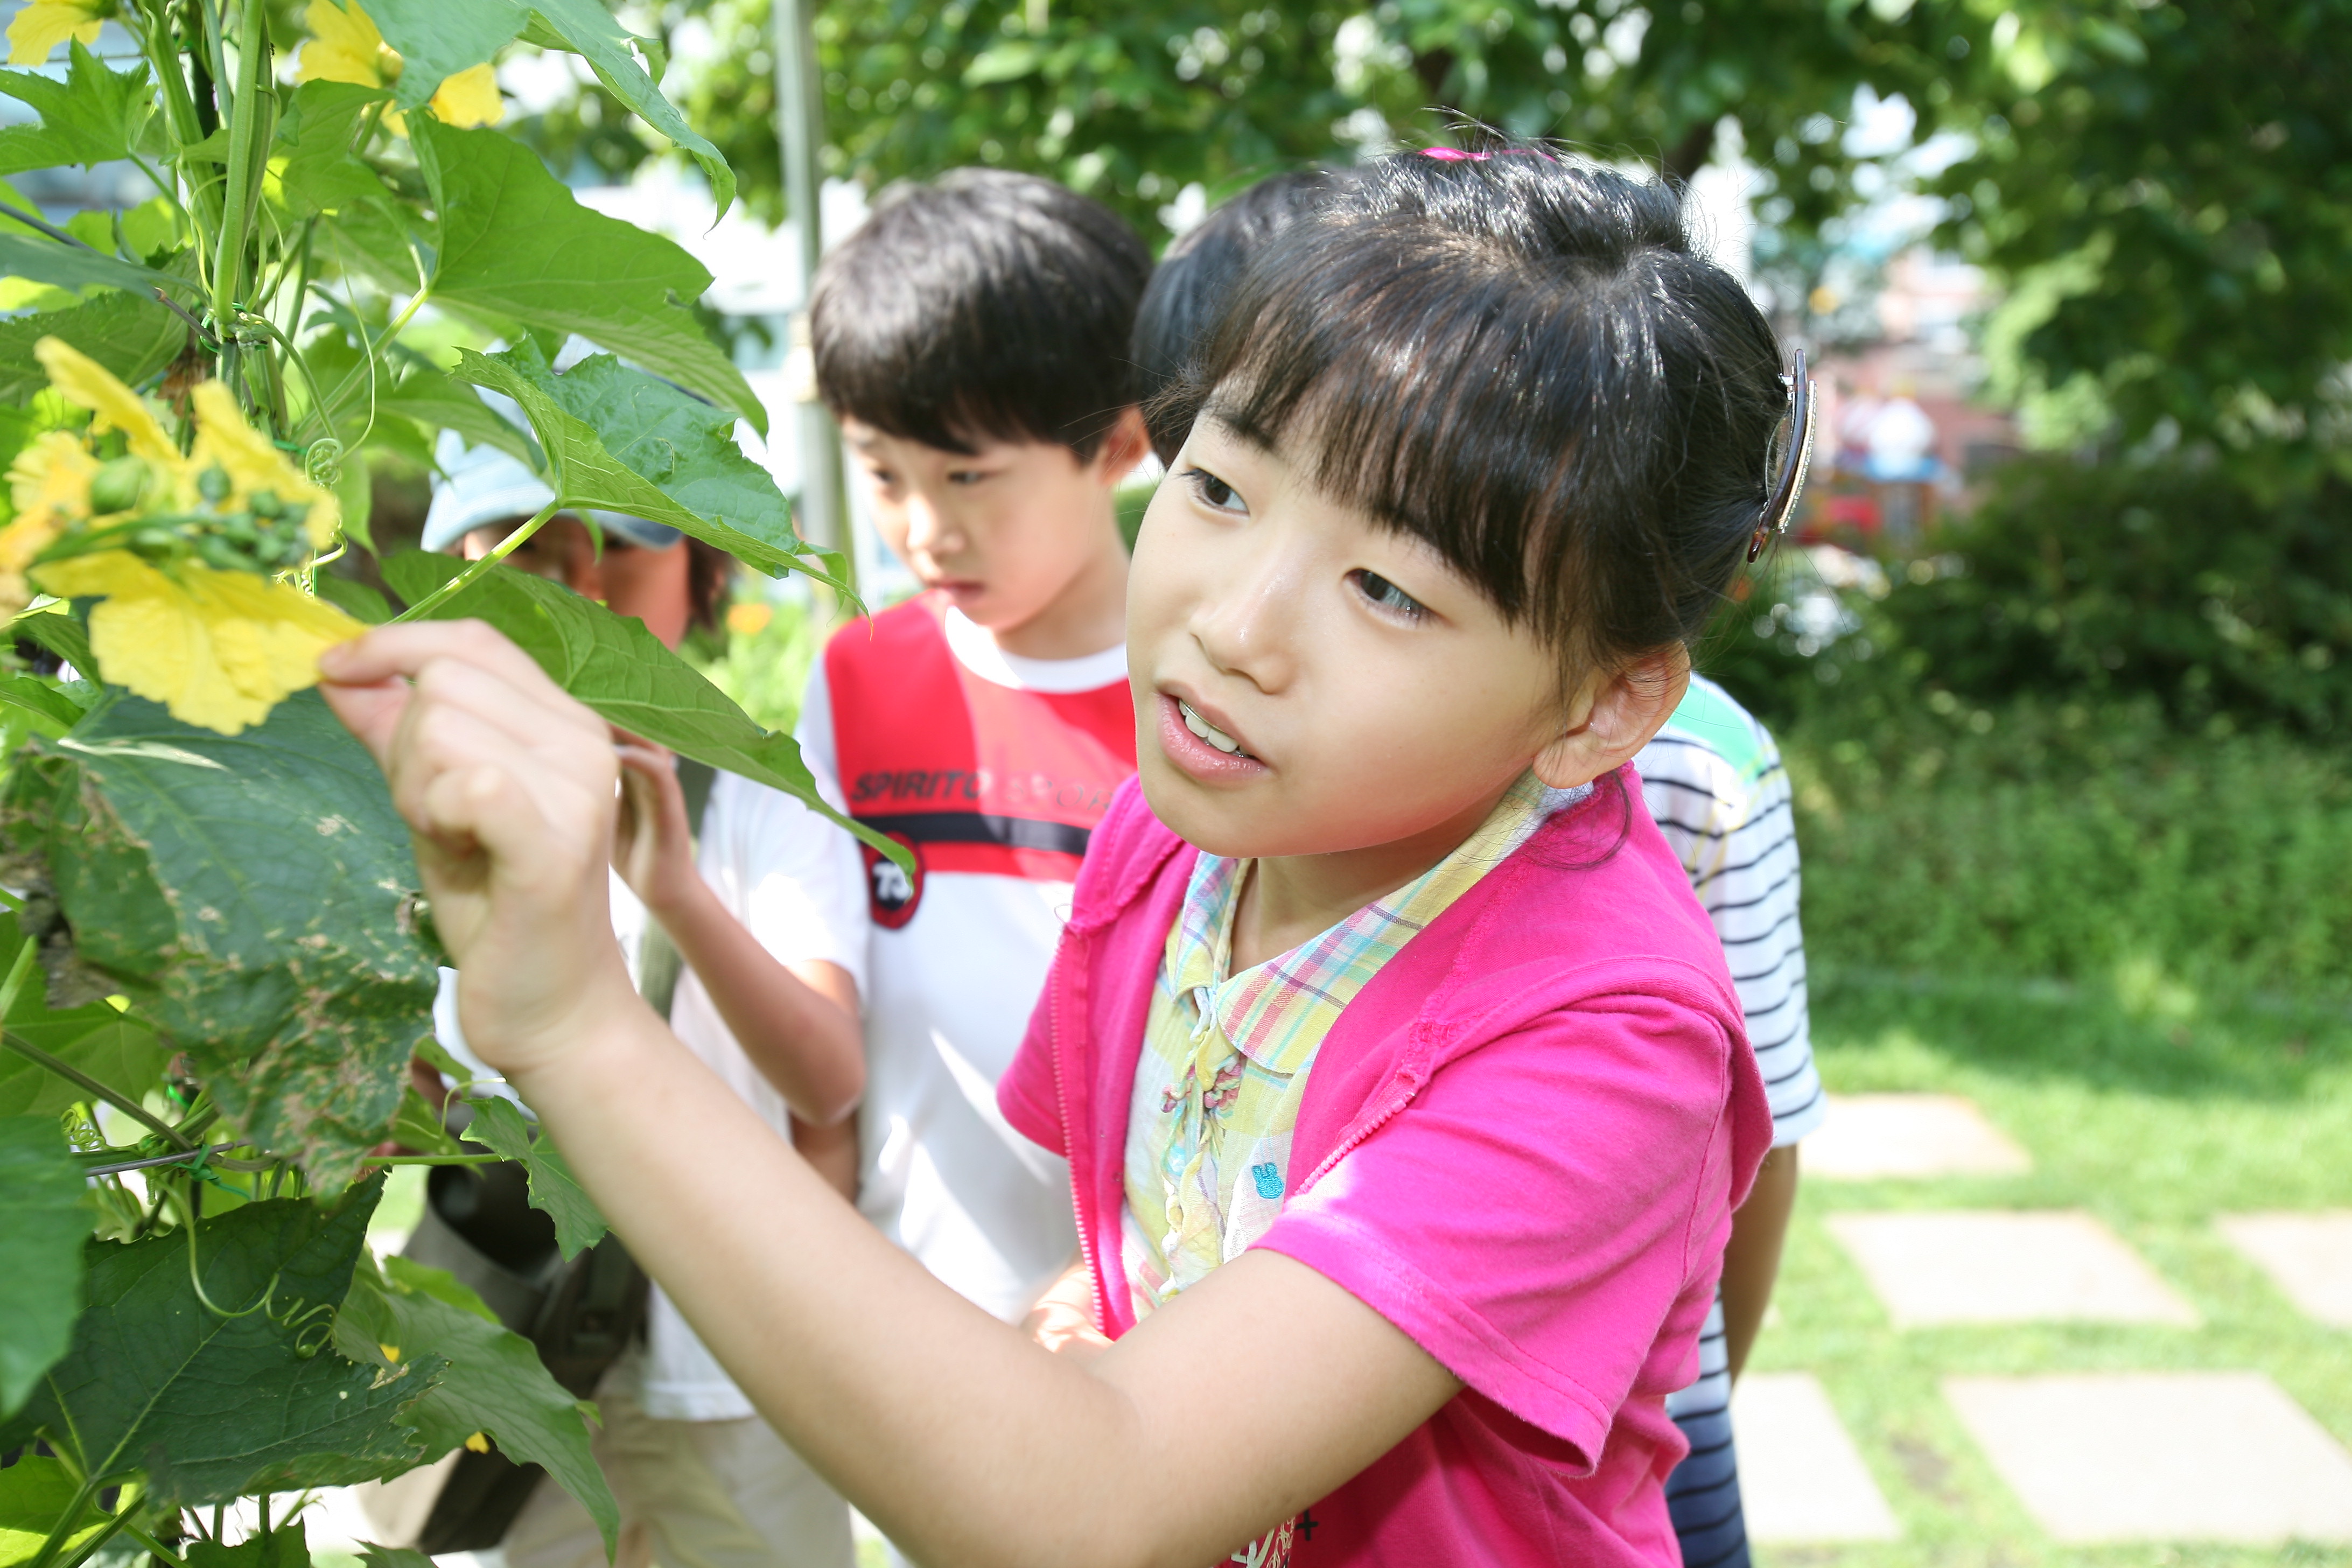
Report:
[[1903,1526],[1870,1479],[1811,1373],[1748,1373],[1731,1394],[1748,1540],[1823,1544],[1898,1540]]

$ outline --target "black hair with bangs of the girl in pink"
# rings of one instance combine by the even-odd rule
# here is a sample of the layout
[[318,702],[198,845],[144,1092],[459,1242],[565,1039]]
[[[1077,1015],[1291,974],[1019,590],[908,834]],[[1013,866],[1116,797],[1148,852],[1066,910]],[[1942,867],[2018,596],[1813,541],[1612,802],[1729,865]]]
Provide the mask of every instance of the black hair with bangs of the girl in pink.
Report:
[[1788,411],[1748,292],[1661,181],[1538,148],[1359,167],[1265,244],[1145,416],[1214,416],[1430,543],[1569,668],[1689,644]]

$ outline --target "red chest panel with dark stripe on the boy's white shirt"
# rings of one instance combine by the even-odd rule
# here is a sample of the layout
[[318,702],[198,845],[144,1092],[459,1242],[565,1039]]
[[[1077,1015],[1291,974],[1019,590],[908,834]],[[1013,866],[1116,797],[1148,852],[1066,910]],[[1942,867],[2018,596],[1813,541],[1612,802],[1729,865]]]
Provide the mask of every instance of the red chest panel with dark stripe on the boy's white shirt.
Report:
[[1014,691],[955,661],[931,595],[826,644],[849,816],[915,851],[917,879],[866,851],[875,922],[903,926],[924,872],[1073,882],[1087,835],[1136,771],[1127,682]]

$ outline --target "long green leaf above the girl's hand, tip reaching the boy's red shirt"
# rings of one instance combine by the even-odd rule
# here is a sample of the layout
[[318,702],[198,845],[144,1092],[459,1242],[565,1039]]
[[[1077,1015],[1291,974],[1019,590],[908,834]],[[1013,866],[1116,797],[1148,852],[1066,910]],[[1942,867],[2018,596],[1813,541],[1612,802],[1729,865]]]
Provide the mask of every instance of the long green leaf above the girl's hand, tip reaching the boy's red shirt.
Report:
[[[383,581],[414,604],[463,569],[463,562],[447,555],[402,550],[383,562]],[[492,567],[470,588],[428,611],[433,621],[466,616],[480,616],[506,632],[539,661],[548,679],[593,708],[597,717],[680,757],[783,790],[915,875],[903,844],[861,827],[816,792],[793,736],[762,729],[701,670],[661,646],[642,621],[616,616],[560,583],[513,567]]]

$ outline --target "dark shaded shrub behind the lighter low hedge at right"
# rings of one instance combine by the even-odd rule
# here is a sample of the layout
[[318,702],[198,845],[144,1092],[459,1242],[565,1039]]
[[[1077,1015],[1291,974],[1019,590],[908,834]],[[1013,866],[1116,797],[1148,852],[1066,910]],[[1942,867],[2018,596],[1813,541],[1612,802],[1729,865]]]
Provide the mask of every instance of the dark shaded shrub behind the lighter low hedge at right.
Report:
[[1703,663],[1790,722],[1856,691],[1900,703],[2152,698],[2190,726],[2352,731],[2352,484],[2258,498],[2190,461],[2025,458],[1929,555],[1842,590],[1785,552],[1724,616]]

